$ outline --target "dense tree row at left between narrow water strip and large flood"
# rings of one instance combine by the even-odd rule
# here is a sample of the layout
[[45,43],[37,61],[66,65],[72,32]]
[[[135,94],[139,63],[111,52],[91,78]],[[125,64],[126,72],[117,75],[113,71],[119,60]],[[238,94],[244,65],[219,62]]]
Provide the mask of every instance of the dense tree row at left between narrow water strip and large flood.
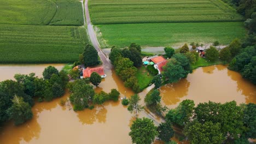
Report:
[[65,93],[68,76],[65,71],[58,71],[55,67],[47,67],[43,71],[43,78],[34,73],[29,75],[16,74],[15,80],[0,82],[0,125],[13,119],[15,125],[31,119],[31,107],[34,99],[50,101],[61,97]]

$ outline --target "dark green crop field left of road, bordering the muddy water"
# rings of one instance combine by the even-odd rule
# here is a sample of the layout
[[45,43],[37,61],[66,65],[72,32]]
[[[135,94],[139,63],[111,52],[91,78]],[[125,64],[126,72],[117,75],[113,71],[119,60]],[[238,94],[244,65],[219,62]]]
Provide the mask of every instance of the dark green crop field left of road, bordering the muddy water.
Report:
[[86,43],[83,27],[0,25],[0,63],[74,62]]

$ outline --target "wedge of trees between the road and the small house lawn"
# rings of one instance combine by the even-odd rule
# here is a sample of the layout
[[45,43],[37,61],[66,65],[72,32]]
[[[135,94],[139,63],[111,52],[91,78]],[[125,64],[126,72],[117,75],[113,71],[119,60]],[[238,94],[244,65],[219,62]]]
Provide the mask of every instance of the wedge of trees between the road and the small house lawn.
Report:
[[137,68],[142,65],[141,46],[132,43],[127,49],[112,47],[109,59],[114,65],[117,75],[125,82],[125,87],[132,88],[133,92],[140,91],[135,77]]

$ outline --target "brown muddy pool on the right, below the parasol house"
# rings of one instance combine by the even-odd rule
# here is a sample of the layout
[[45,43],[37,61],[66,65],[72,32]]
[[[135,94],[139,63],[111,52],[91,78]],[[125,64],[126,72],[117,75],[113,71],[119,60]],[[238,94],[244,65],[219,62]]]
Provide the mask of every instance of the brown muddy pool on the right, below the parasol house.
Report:
[[170,108],[185,99],[194,100],[196,105],[208,100],[218,103],[232,100],[237,104],[256,103],[256,86],[224,65],[196,69],[187,79],[161,87],[160,93],[162,103]]

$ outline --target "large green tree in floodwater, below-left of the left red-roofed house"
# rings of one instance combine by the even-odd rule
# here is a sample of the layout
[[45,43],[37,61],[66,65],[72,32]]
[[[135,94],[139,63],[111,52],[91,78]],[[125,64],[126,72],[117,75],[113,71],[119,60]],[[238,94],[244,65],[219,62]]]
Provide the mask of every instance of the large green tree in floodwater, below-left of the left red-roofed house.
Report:
[[[82,85],[80,85],[82,84]],[[75,81],[71,86],[70,101],[74,105],[74,111],[83,110],[89,106],[89,102],[94,98],[94,89],[83,80]]]

